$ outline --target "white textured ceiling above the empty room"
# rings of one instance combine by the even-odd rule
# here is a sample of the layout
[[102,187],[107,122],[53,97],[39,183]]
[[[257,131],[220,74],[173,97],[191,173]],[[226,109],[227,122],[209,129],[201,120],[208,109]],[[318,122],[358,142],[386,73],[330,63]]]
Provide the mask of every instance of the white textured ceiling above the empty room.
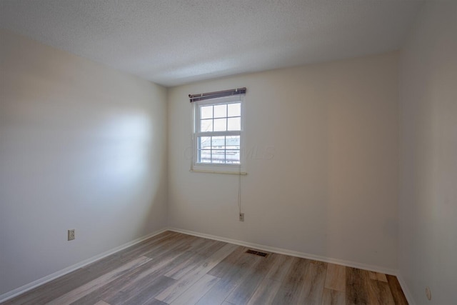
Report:
[[422,4],[416,0],[0,0],[0,26],[157,84],[175,86],[395,50]]

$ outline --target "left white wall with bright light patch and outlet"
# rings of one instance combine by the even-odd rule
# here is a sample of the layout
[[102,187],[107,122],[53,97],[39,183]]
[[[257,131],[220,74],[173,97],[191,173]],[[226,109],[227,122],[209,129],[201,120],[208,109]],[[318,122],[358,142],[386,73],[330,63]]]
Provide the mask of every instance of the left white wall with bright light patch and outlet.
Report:
[[0,294],[166,226],[166,89],[6,31],[0,71]]

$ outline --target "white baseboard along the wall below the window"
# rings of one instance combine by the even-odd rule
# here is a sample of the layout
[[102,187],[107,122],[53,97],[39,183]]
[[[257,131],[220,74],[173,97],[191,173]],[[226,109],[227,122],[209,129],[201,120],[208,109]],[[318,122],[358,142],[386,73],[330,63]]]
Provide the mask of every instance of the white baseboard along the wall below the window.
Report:
[[381,266],[361,264],[361,263],[357,263],[355,261],[332,259],[332,258],[329,258],[326,256],[308,254],[308,253],[303,253],[303,252],[298,252],[298,251],[291,251],[291,250],[287,250],[287,249],[276,248],[273,246],[263,246],[261,244],[253,244],[253,243],[250,243],[247,241],[238,241],[237,239],[227,239],[225,237],[215,236],[215,235],[211,235],[211,234],[204,234],[204,233],[199,233],[199,232],[194,232],[194,231],[188,231],[188,230],[183,230],[183,229],[169,228],[169,231],[175,231],[175,232],[179,232],[179,233],[204,237],[206,239],[214,239],[216,241],[225,241],[230,244],[237,244],[240,246],[247,246],[247,247],[258,249],[258,250],[301,257],[302,259],[313,259],[315,261],[323,261],[326,263],[338,264],[338,265],[343,265],[343,266],[348,266],[348,267],[353,267],[353,268],[358,268],[358,269],[364,269],[364,270],[369,270],[369,271],[375,271],[375,272],[380,272],[383,274],[390,274],[390,275],[394,275],[394,276],[397,276],[397,274],[398,274],[398,270],[396,270],[396,269],[389,269],[389,268],[384,268]]

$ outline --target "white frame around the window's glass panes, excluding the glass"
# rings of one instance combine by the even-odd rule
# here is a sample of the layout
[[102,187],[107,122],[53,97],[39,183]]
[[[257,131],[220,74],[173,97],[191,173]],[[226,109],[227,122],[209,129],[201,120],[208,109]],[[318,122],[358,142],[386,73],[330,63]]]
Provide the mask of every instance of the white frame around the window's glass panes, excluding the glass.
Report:
[[[217,104],[237,103],[241,104],[241,130],[240,131],[200,131],[200,107]],[[246,139],[244,132],[244,121],[246,119],[244,94],[236,96],[224,96],[216,99],[192,102],[192,163],[191,171],[208,172],[216,174],[247,174],[246,173]],[[209,164],[198,162],[198,139],[199,136],[240,136],[240,164]]]

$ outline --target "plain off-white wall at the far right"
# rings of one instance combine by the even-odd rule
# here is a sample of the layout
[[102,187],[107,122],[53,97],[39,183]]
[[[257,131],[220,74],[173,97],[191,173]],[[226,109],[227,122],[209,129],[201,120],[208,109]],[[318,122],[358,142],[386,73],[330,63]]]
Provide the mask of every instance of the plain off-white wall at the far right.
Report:
[[456,304],[455,1],[427,2],[418,16],[401,55],[400,101],[400,274],[417,304]]

